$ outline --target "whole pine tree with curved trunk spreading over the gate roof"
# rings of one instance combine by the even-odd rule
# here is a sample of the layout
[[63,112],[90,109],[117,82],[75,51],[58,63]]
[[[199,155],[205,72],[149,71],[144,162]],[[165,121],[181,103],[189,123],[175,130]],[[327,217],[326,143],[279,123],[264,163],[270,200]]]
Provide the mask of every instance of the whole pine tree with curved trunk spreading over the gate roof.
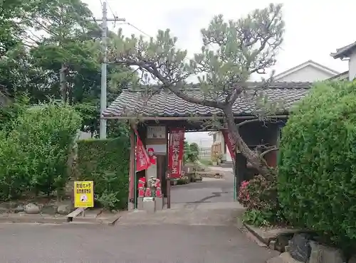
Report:
[[[235,21],[215,16],[201,30],[203,45],[194,58],[187,57],[187,50],[177,48],[177,38],[169,29],[158,31],[157,37],[149,40],[143,36],[125,37],[119,31],[108,52],[113,63],[135,66],[145,73],[142,80],[157,82],[159,88],[154,93],[169,90],[187,102],[221,109],[239,150],[260,173],[268,174],[266,161],[241,138],[232,106],[238,97],[246,96],[251,74],[264,74],[276,63],[283,33],[282,5],[270,4]],[[192,75],[198,75],[204,98],[184,92],[187,78]],[[266,85],[268,80],[257,89]]]

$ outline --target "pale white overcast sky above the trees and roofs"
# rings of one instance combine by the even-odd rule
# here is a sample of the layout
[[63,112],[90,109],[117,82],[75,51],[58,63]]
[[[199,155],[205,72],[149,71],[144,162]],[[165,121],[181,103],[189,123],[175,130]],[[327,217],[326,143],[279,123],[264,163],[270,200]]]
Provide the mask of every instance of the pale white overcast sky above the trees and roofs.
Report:
[[[100,0],[83,1],[88,4],[95,17],[102,16]],[[178,38],[178,47],[187,49],[188,54],[192,56],[201,48],[200,29],[206,28],[214,15],[223,14],[226,20],[238,19],[253,9],[268,6],[269,3],[271,1],[268,0],[108,0],[108,16],[115,14],[132,25],[116,23],[114,27],[114,23],[109,23],[109,28],[117,31],[122,27],[127,36],[132,33],[140,35],[142,32],[155,36],[157,30],[170,28]],[[340,73],[347,70],[347,61],[335,60],[330,57],[330,53],[356,41],[356,34],[351,33],[356,2],[281,0],[276,3],[283,4],[283,17],[286,22],[282,50],[273,67],[276,74],[307,60],[314,60]],[[210,143],[206,141],[209,139],[206,133],[187,135],[190,141],[200,143],[203,140],[202,144]]]

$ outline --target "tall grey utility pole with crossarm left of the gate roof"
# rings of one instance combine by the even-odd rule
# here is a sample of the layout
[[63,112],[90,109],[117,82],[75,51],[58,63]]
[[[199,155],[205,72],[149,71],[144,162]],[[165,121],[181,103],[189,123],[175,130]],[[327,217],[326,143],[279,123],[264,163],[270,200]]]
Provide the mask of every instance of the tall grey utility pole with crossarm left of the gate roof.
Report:
[[102,21],[101,26],[101,48],[103,50],[103,63],[101,64],[101,89],[100,89],[100,132],[99,136],[100,139],[106,139],[106,119],[102,119],[101,116],[103,111],[106,109],[106,102],[107,102],[107,95],[106,95],[106,84],[107,84],[107,65],[108,65],[108,58],[107,58],[107,32],[108,32],[108,22],[109,21],[123,21],[125,22],[125,18],[118,18],[115,16],[114,18],[108,18],[108,6],[107,0],[103,0],[103,18],[96,19],[94,18],[93,21]]

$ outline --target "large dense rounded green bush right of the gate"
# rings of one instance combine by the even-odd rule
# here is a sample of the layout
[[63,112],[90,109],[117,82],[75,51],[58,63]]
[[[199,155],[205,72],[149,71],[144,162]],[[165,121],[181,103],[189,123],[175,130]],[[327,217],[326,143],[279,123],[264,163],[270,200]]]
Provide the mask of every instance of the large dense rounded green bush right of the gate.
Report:
[[286,218],[356,239],[356,82],[318,83],[283,128],[278,195]]

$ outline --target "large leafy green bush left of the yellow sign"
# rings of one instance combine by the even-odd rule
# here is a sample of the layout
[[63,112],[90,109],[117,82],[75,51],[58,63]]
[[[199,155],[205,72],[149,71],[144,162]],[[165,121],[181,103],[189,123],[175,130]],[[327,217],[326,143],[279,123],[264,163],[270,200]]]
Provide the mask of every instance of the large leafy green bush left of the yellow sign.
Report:
[[[51,102],[23,110],[0,133],[0,198],[23,193],[58,195],[68,182],[68,156],[81,119],[66,104]],[[7,126],[9,127],[9,126]]]

